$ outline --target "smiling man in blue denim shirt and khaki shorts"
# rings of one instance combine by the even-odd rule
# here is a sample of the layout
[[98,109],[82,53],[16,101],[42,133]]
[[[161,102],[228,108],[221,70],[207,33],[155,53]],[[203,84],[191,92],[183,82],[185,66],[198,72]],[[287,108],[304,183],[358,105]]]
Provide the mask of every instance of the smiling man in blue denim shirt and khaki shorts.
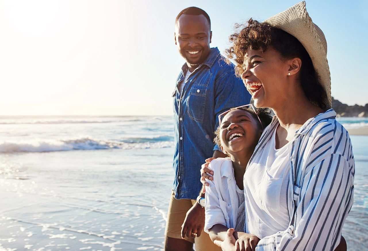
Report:
[[[203,231],[204,194],[200,169],[209,157],[226,157],[213,142],[217,116],[248,104],[250,94],[227,65],[212,38],[208,14],[197,7],[181,11],[175,22],[175,44],[186,63],[173,92],[175,120],[174,189],[165,230],[166,251],[221,250]],[[197,198],[197,201],[195,199]]]

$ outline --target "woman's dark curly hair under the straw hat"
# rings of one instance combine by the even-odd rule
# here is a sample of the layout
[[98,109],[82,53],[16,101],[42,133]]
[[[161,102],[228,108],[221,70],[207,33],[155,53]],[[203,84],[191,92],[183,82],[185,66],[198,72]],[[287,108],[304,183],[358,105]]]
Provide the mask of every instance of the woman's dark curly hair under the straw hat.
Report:
[[321,85],[320,77],[313,67],[311,57],[304,46],[289,33],[277,29],[268,23],[260,23],[252,18],[247,24],[235,25],[235,32],[229,36],[230,48],[225,50],[227,62],[236,63],[235,73],[238,77],[243,73],[244,56],[248,49],[265,52],[268,46],[277,50],[284,59],[298,57],[302,61],[299,81],[309,101],[326,109],[326,91]]

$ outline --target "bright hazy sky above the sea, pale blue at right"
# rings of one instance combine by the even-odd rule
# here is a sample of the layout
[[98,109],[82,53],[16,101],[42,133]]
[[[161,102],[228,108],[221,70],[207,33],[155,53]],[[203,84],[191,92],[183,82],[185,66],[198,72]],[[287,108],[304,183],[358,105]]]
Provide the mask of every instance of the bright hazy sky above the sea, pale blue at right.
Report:
[[[296,3],[0,0],[0,115],[171,115],[181,10],[204,9],[223,51],[235,22]],[[307,0],[307,11],[327,39],[332,96],[368,103],[368,1]]]

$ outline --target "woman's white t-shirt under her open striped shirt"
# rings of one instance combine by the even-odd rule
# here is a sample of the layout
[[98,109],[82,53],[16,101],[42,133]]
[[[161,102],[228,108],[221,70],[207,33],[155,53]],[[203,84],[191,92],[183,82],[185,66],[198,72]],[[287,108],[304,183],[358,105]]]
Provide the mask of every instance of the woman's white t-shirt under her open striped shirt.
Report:
[[[264,238],[289,227],[291,142],[275,148],[276,129],[244,174],[246,231]],[[249,196],[248,196],[249,195]],[[280,206],[281,205],[281,206]]]

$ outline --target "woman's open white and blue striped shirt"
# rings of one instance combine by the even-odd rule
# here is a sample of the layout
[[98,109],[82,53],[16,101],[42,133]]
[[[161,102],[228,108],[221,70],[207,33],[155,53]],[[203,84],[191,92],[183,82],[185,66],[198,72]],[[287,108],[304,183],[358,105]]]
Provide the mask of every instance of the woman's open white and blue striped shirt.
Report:
[[[279,121],[275,116],[265,128],[247,170],[252,165],[257,165],[253,161],[259,155],[267,158],[262,149],[278,125]],[[244,189],[246,231],[262,236],[256,251],[335,250],[340,243],[344,221],[353,204],[355,168],[348,132],[336,121],[335,111],[330,109],[305,122],[290,143],[287,205],[280,205],[288,210],[289,227],[265,237],[262,233],[257,233],[264,224],[262,214],[265,212],[247,212],[247,209],[252,208],[251,205],[247,206],[247,202],[254,203],[259,194],[247,193]],[[247,173],[247,170],[244,175],[252,176],[252,172]],[[266,213],[272,216],[277,211]],[[258,226],[252,229],[255,222]]]

